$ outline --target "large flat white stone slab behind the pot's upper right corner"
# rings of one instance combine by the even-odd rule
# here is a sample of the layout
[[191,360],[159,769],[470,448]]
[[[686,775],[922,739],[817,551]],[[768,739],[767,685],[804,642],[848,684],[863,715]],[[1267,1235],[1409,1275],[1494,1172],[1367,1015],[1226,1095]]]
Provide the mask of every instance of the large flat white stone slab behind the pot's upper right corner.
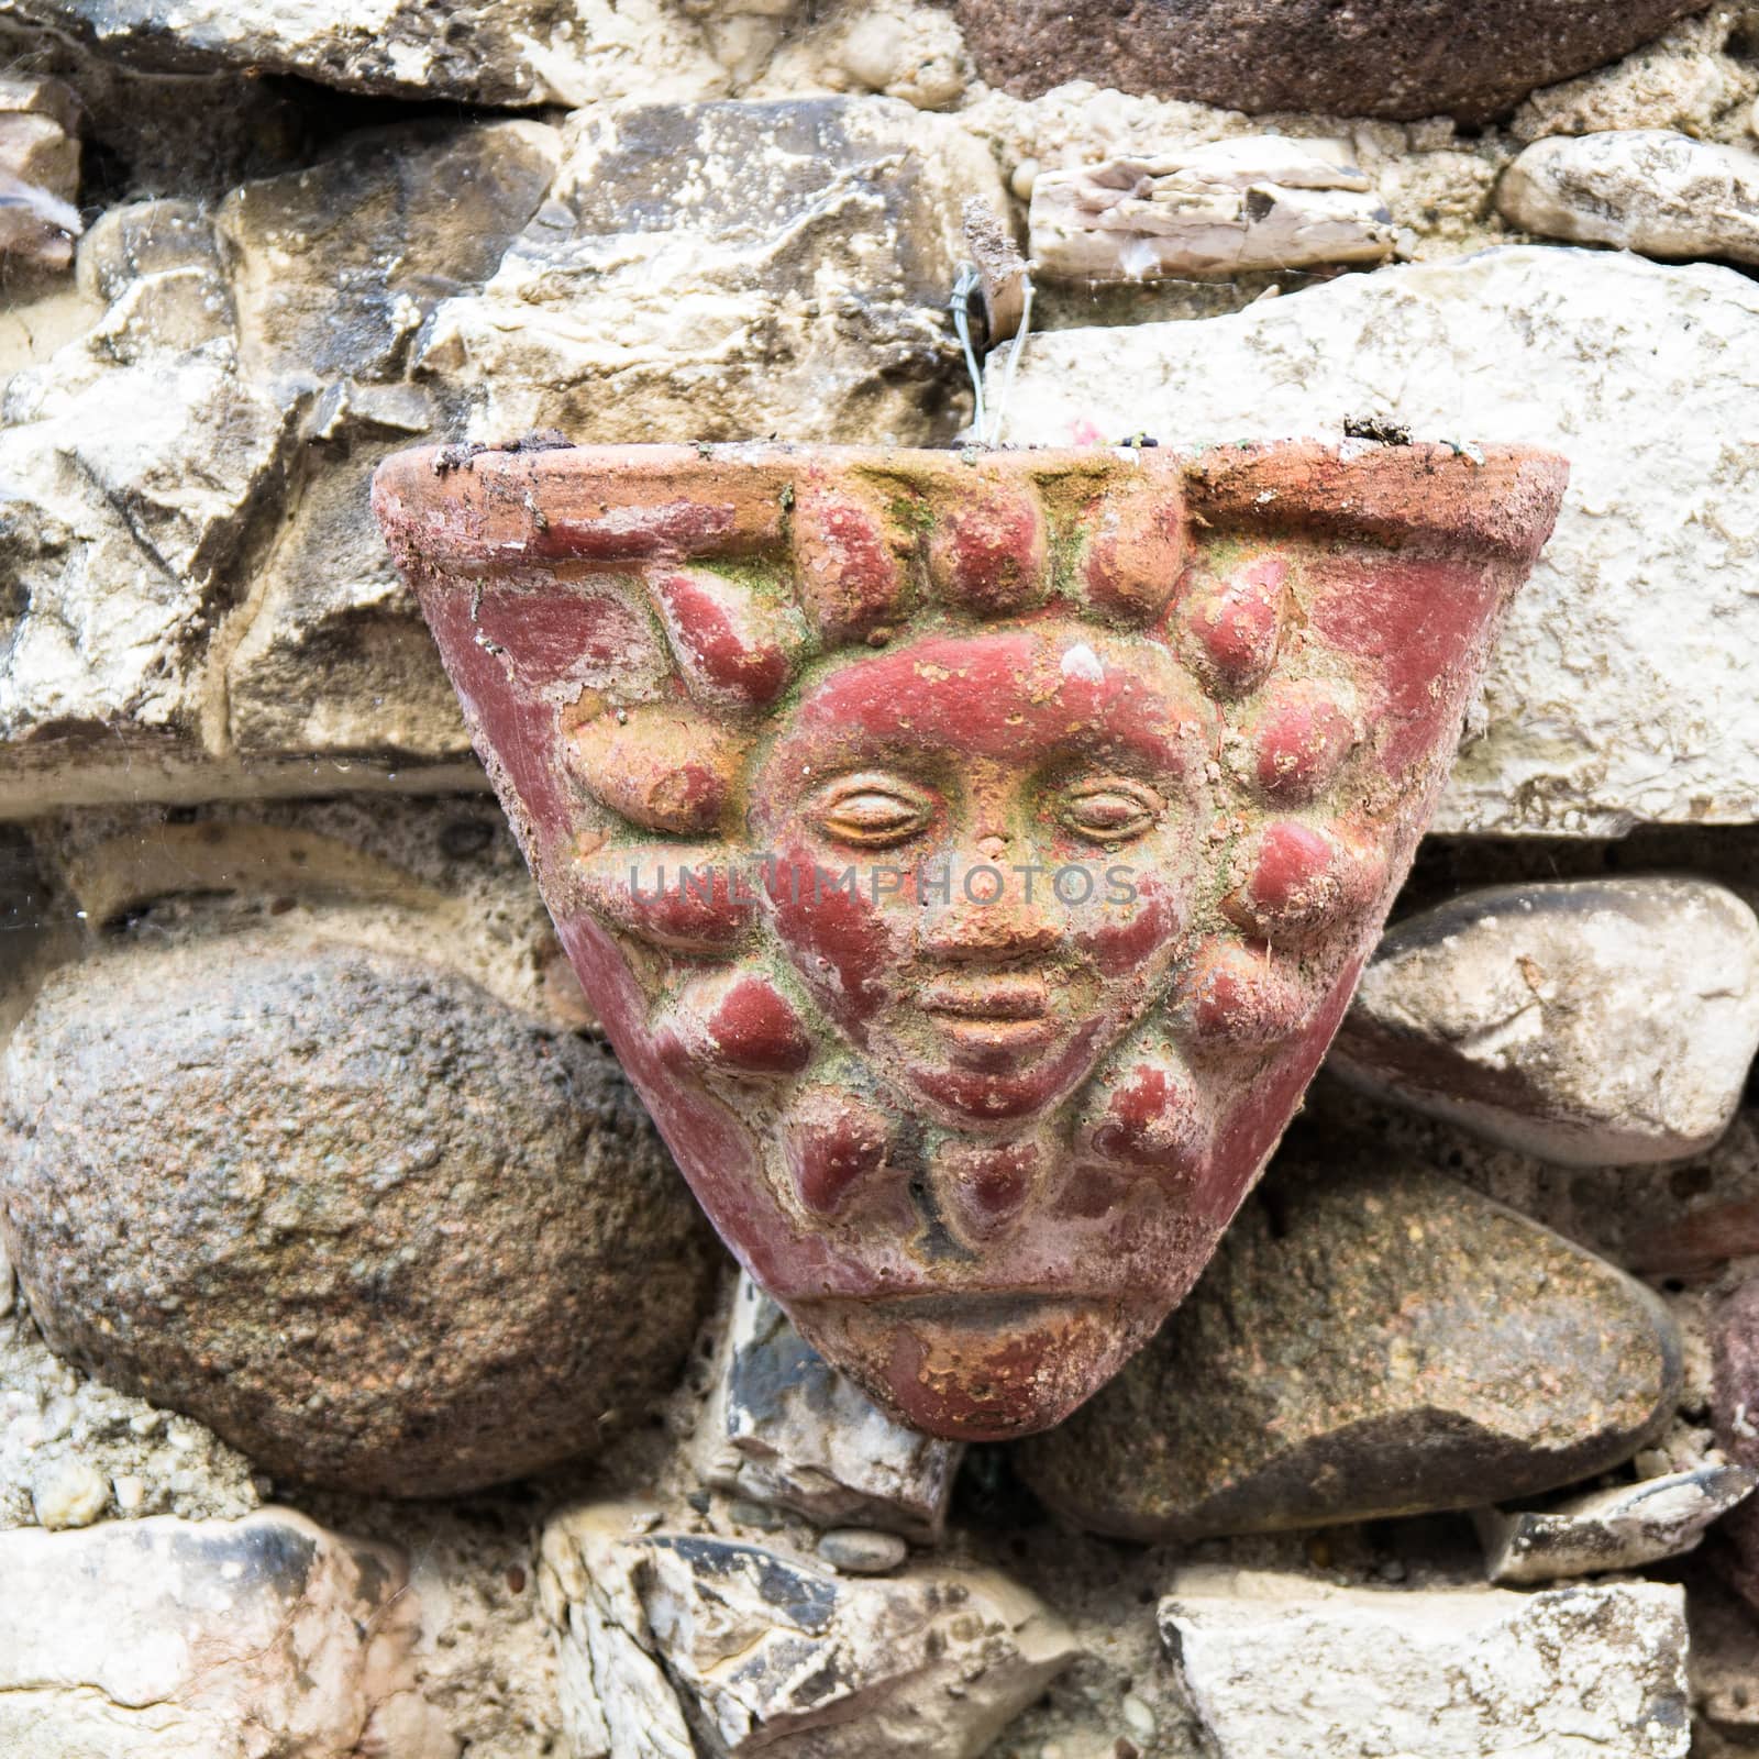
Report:
[[[1344,276],[1231,317],[1034,338],[1013,443],[1416,438],[1562,452],[1437,832],[1741,823],[1759,793],[1759,287],[1733,269],[1520,246]],[[1643,433],[1643,445],[1631,434]]]

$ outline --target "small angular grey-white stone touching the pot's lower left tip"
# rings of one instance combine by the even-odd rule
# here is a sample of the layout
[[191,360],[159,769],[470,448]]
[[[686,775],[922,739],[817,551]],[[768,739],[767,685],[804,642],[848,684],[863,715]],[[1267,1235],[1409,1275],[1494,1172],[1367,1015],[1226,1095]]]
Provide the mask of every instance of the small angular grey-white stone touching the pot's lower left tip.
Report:
[[821,1527],[939,1537],[964,1449],[894,1423],[741,1272],[697,1467],[732,1495]]

